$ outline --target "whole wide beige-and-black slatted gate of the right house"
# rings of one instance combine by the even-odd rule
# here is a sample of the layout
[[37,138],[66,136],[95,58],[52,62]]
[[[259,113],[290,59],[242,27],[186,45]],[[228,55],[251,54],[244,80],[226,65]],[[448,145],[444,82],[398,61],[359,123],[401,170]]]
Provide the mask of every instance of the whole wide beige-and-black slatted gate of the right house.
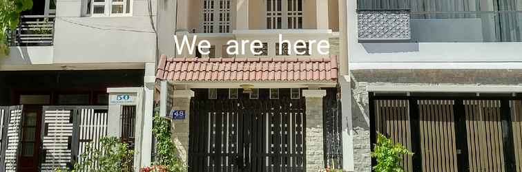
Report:
[[371,97],[371,136],[415,154],[406,171],[522,171],[522,100]]

